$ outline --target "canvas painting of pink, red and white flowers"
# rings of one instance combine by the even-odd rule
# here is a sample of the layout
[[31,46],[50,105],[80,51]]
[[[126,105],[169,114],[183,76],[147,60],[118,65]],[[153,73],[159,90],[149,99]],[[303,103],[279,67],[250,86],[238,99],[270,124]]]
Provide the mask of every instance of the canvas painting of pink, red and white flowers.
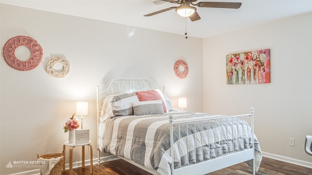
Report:
[[270,83],[270,49],[226,56],[227,84]]

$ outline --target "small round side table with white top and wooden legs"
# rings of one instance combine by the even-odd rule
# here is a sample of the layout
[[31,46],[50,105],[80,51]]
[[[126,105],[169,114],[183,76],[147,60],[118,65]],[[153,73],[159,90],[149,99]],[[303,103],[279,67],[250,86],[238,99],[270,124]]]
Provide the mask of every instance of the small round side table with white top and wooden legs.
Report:
[[92,145],[91,145],[91,141],[89,141],[89,143],[81,143],[81,144],[75,144],[75,143],[69,143],[68,141],[64,142],[63,145],[63,152],[64,152],[64,161],[63,161],[63,171],[62,173],[65,172],[65,147],[66,146],[70,146],[69,149],[69,175],[73,175],[73,149],[77,146],[81,146],[82,147],[82,158],[81,158],[81,164],[82,164],[82,168],[84,168],[84,146],[88,145],[90,147],[90,174],[93,174],[93,169],[92,169],[92,165],[93,165],[93,161],[92,161]]

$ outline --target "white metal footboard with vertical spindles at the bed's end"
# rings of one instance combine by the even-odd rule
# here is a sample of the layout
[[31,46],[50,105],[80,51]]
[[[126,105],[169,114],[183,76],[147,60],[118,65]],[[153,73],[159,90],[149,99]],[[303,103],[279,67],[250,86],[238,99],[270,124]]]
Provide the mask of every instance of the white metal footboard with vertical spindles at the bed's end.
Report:
[[[170,155],[173,160],[171,174],[182,175],[194,171],[198,174],[207,174],[253,159],[253,174],[255,175],[254,108],[250,110],[251,113],[246,115],[187,121],[175,121],[170,115]],[[183,129],[186,127],[187,136],[181,136],[182,126]],[[174,132],[178,132],[178,138],[174,138]],[[182,140],[186,140],[186,143]],[[191,162],[190,152],[195,154],[195,160],[191,159]],[[209,156],[205,156],[204,153]],[[197,158],[196,155],[199,154],[202,154],[199,156],[202,159]],[[186,156],[184,160],[186,159],[187,162],[182,163],[182,156]],[[179,161],[176,166],[175,160]]]

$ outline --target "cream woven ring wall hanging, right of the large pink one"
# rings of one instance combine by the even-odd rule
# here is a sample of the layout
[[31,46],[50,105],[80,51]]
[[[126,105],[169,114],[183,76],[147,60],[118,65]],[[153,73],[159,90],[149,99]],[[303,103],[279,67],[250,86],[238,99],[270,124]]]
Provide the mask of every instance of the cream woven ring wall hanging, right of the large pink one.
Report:
[[[56,66],[61,65],[62,67],[57,70]],[[47,63],[47,73],[50,74],[52,77],[55,78],[63,78],[69,72],[69,63],[63,57],[54,57],[49,60]]]

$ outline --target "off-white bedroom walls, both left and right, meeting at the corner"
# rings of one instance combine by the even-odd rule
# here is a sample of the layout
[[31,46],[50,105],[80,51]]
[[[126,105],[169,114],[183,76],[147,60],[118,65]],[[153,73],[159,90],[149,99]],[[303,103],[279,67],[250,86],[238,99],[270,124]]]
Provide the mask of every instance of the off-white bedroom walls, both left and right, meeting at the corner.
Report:
[[[84,128],[91,129],[96,156],[95,86],[117,77],[152,78],[159,88],[166,86],[175,108],[177,97],[188,97],[187,111],[231,115],[254,106],[255,133],[264,152],[312,161],[303,150],[304,136],[312,134],[311,13],[206,39],[4,4],[0,22],[1,47],[25,35],[43,49],[41,63],[30,71],[12,69],[1,55],[1,175],[33,170],[5,168],[9,161],[61,152],[68,136],[62,127],[78,100],[89,101]],[[227,54],[264,48],[271,49],[271,83],[226,85]],[[65,78],[45,72],[55,56],[70,63]],[[178,59],[189,64],[185,79],[174,75]],[[295,147],[288,146],[289,137],[296,139]]]

